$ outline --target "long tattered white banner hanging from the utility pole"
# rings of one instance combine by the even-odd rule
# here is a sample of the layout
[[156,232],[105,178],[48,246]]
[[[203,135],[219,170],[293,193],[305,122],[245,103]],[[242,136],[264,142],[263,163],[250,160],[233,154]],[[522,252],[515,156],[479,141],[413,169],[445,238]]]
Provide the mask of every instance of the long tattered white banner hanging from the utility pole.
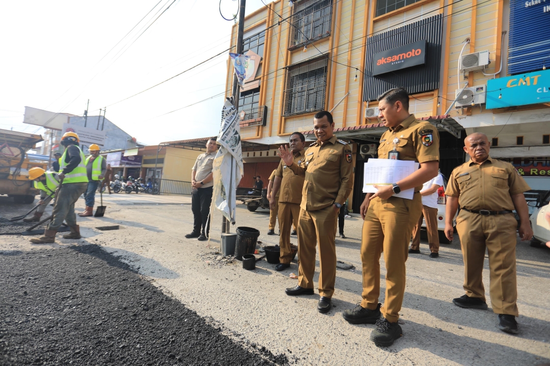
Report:
[[229,222],[235,223],[235,194],[243,177],[243,150],[240,143],[239,116],[229,100],[223,105],[222,126],[217,141],[220,145],[212,164],[213,204]]

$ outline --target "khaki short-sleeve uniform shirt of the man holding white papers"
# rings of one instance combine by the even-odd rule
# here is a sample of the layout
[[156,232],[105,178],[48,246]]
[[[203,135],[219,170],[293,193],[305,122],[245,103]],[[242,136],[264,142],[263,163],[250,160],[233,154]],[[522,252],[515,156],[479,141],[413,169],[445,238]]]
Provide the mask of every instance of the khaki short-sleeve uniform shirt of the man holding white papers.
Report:
[[[382,134],[378,159],[389,159],[390,151],[399,153],[399,160],[416,162],[439,161],[439,133],[430,122],[417,120],[414,114]],[[422,185],[415,187],[421,190]]]

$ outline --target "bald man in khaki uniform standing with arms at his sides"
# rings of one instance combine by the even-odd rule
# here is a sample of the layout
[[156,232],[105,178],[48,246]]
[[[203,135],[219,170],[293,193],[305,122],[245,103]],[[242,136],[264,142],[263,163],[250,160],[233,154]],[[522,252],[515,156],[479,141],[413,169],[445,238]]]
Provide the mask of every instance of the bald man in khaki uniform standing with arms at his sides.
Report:
[[519,316],[516,300],[516,227],[512,213],[520,218],[521,240],[530,240],[533,230],[524,192],[529,185],[509,162],[489,156],[489,140],[483,133],[472,133],[464,140],[464,151],[470,161],[456,167],[447,185],[445,235],[453,239],[452,218],[460,204],[456,231],[464,258],[464,290],[466,295],[453,300],[457,306],[487,309],[482,271],[485,248],[489,252],[491,305],[498,315],[498,328],[518,333]]

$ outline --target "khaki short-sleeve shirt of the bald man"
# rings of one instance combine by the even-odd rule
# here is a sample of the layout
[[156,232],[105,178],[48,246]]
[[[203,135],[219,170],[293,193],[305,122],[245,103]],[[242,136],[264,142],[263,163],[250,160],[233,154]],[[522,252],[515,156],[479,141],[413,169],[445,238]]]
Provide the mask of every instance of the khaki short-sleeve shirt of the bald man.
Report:
[[509,162],[491,156],[481,164],[467,161],[454,168],[445,194],[458,197],[467,210],[515,210],[511,196],[529,190],[529,185]]

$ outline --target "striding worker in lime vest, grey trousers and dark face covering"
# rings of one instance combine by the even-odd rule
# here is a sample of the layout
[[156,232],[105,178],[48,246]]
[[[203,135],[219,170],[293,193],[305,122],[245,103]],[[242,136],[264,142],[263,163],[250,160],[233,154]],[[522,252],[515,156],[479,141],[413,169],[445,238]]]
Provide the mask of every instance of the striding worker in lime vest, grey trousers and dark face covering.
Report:
[[80,228],[76,224],[74,204],[81,194],[86,191],[88,178],[84,165],[84,154],[79,148],[78,134],[65,132],[61,138],[61,144],[65,147],[61,162],[59,163],[59,182],[57,198],[53,206],[53,219],[44,235],[38,239],[31,239],[31,243],[53,243],[56,240],[57,229],[61,227],[63,220],[67,221],[70,233],[63,235],[65,239],[80,239]]

